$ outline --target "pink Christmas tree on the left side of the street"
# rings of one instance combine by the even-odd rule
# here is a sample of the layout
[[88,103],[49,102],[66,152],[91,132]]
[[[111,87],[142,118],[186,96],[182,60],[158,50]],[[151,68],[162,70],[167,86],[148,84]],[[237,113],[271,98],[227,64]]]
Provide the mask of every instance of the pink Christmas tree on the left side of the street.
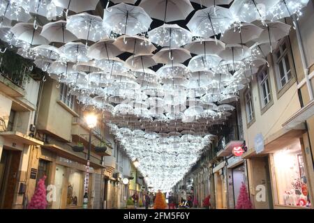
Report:
[[46,176],[44,176],[38,181],[35,194],[33,194],[33,197],[31,197],[31,202],[29,202],[27,209],[46,209],[47,199],[45,178]]

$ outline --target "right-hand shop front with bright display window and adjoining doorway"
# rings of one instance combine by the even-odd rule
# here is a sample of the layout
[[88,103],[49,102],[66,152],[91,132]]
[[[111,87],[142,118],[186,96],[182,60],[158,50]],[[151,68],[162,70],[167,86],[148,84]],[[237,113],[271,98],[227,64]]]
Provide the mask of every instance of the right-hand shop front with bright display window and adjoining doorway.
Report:
[[[312,208],[306,153],[301,134],[292,132],[269,141],[260,153],[250,149],[248,183],[255,208]],[[294,137],[293,137],[294,136]]]

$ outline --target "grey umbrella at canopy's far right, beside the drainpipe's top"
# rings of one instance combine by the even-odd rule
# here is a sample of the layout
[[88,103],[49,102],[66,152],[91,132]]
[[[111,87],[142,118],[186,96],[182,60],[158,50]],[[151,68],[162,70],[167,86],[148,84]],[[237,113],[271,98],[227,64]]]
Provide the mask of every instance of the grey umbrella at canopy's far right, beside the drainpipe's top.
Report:
[[268,39],[271,53],[273,52],[272,43],[276,43],[281,38],[288,36],[290,33],[291,26],[283,22],[266,22],[267,27],[264,28],[262,34],[259,38],[255,39],[256,42],[265,43],[265,40]]

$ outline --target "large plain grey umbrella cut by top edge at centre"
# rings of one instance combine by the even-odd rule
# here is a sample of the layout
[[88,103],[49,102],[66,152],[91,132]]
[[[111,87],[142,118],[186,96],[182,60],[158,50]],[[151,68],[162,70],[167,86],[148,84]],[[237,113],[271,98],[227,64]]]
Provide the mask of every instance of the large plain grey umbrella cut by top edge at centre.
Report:
[[189,0],[143,0],[140,6],[151,17],[164,23],[185,20],[194,10]]

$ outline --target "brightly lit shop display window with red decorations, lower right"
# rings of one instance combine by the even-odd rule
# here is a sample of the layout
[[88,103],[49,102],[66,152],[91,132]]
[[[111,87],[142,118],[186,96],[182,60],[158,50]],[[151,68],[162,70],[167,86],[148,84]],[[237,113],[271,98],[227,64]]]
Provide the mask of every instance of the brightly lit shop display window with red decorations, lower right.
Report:
[[300,144],[293,144],[274,153],[274,166],[278,204],[285,206],[311,206]]

